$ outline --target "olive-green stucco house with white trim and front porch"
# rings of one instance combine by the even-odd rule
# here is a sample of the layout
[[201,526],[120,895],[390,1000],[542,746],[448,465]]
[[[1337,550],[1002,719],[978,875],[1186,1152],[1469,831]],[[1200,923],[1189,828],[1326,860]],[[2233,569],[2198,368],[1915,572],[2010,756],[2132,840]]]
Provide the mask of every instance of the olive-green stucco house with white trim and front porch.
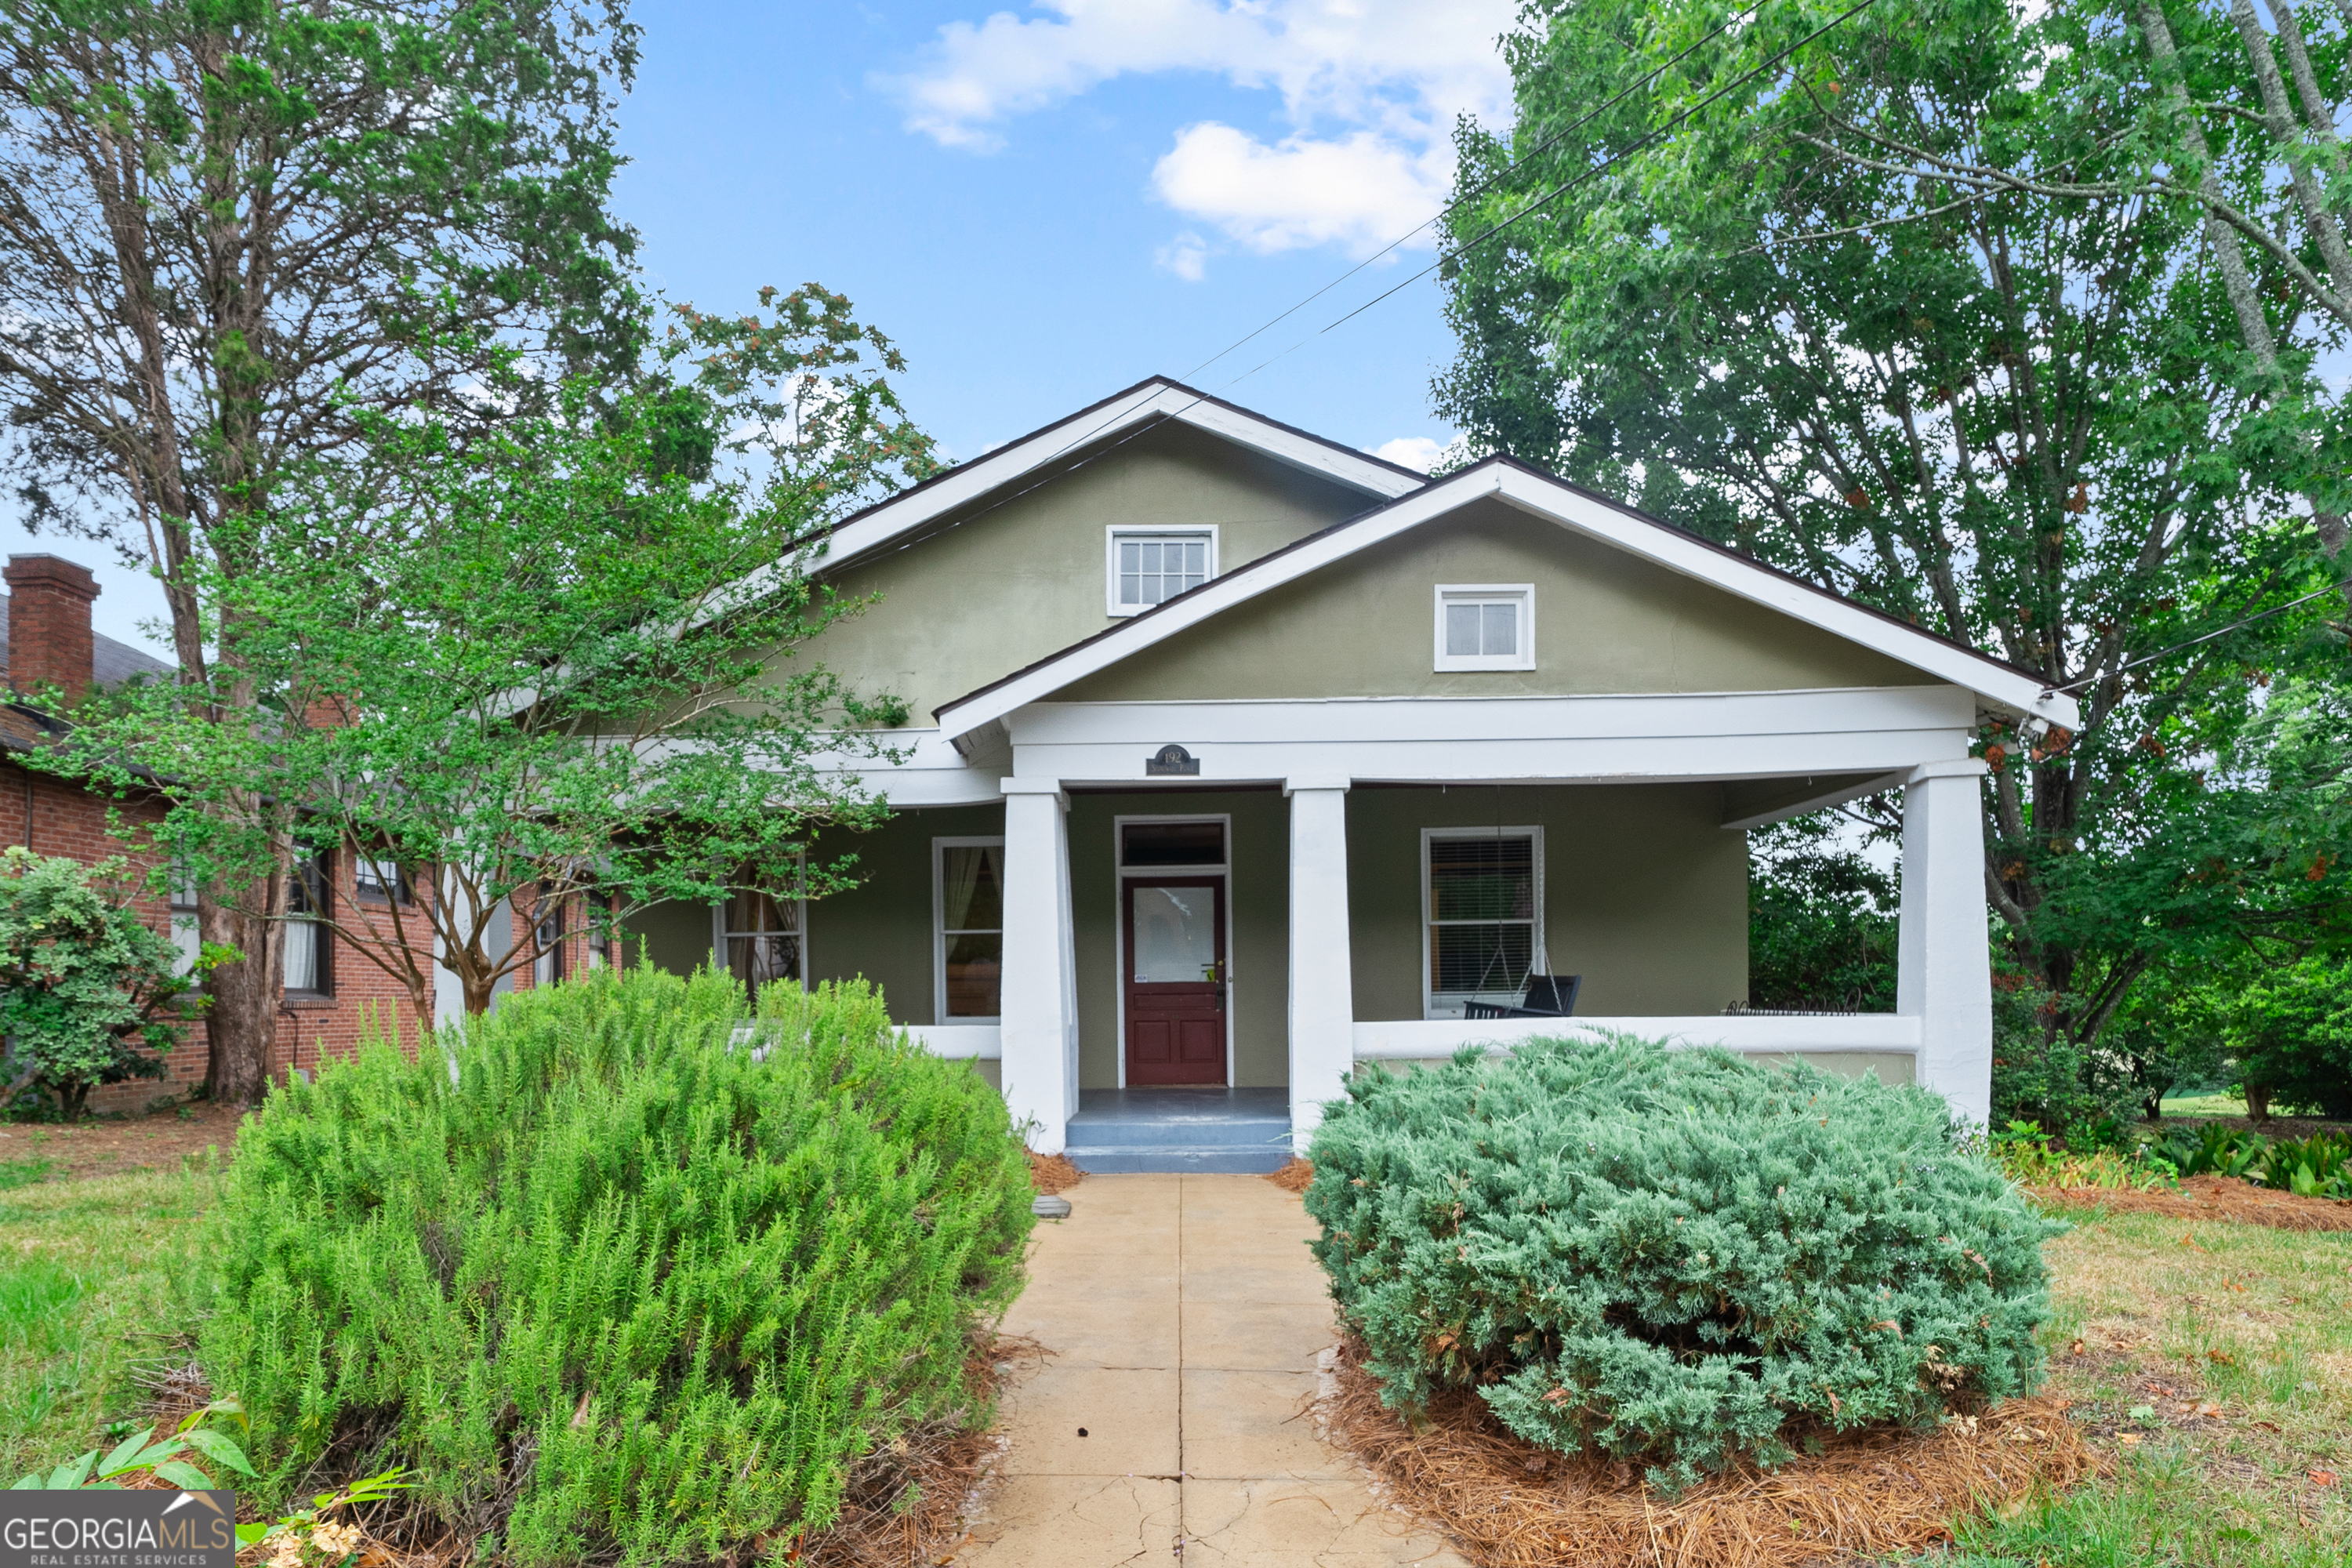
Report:
[[[849,517],[816,571],[877,599],[795,658],[915,712],[866,882],[642,933],[875,980],[1040,1152],[1164,1088],[1303,1135],[1357,1063],[1562,1027],[1987,1114],[1971,738],[2077,722],[2025,670],[1524,463],[1430,480],[1162,378]],[[1898,1009],[1726,1016],[1745,830],[1889,788]],[[1581,976],[1571,1020],[1465,1016],[1531,976]]]

